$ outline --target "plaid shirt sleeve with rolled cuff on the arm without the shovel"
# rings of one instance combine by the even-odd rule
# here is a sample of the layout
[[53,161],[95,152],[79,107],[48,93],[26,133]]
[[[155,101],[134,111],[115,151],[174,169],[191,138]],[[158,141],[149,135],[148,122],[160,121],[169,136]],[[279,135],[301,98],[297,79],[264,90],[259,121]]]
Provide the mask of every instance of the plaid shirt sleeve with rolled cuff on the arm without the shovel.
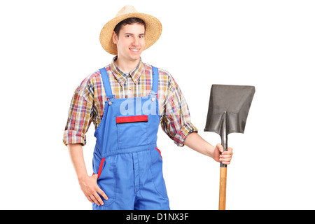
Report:
[[93,120],[93,102],[89,94],[89,86],[87,80],[77,87],[73,94],[68,120],[64,129],[63,142],[67,144],[86,144],[85,133],[90,127]]

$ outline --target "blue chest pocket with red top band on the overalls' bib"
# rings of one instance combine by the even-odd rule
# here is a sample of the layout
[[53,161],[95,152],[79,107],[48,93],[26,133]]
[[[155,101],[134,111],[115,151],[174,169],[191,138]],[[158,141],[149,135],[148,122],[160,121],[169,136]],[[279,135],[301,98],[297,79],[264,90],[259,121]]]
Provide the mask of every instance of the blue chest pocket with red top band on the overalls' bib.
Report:
[[116,117],[118,148],[148,144],[148,116]]

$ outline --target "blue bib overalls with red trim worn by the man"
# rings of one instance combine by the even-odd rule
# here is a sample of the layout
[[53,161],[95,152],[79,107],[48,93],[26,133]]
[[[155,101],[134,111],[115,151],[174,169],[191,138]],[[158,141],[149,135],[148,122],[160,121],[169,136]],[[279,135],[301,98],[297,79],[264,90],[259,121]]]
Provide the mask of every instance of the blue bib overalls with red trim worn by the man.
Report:
[[169,209],[157,148],[160,124],[158,69],[153,67],[153,87],[147,97],[116,99],[106,69],[100,69],[108,100],[95,130],[93,172],[109,200],[93,209]]

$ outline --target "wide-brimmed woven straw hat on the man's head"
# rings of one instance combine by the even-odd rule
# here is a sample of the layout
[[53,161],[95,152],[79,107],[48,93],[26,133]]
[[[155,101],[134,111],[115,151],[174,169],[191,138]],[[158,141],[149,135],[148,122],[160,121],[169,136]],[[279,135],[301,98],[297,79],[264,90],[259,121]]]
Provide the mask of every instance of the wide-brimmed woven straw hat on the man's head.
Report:
[[102,47],[111,55],[117,55],[116,44],[112,41],[113,30],[119,22],[127,18],[139,18],[146,23],[146,45],[144,46],[144,50],[150,48],[153,43],[158,41],[162,34],[162,24],[157,18],[152,15],[138,13],[133,6],[125,6],[120,9],[113,20],[110,20],[104,25],[101,35],[99,36],[99,41],[101,41]]

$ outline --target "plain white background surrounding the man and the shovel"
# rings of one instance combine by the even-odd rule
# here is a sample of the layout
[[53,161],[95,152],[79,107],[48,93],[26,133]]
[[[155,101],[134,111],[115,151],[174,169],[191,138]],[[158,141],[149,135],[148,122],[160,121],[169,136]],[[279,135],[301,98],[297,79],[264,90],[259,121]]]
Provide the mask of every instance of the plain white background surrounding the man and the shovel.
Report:
[[[302,0],[1,1],[0,209],[92,209],[62,135],[74,90],[113,57],[99,32],[129,4],[162,22],[142,59],[174,76],[211,144],[211,85],[255,85],[245,133],[229,135],[226,208],[315,209],[315,3]],[[162,130],[158,146],[171,209],[218,209],[219,164]]]

